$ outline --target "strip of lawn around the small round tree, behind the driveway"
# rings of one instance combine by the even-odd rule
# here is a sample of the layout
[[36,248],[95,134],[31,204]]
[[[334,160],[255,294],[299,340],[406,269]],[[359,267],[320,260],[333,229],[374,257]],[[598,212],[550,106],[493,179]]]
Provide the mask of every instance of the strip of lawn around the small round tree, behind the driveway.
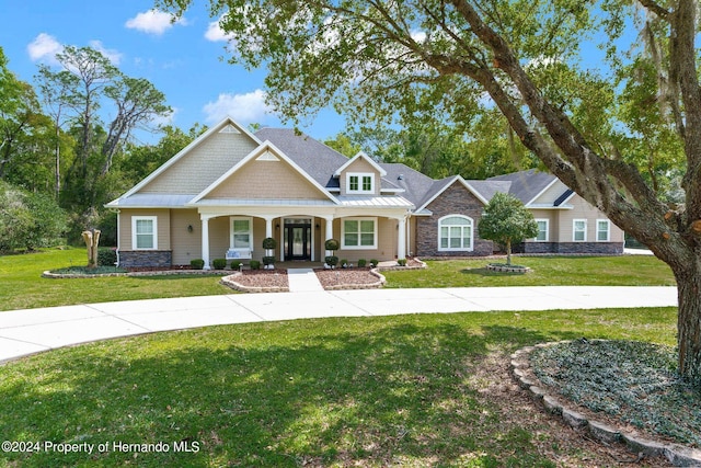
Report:
[[387,271],[386,287],[470,286],[676,286],[669,266],[655,256],[518,256],[527,274],[486,270],[494,260],[428,260],[427,270]]

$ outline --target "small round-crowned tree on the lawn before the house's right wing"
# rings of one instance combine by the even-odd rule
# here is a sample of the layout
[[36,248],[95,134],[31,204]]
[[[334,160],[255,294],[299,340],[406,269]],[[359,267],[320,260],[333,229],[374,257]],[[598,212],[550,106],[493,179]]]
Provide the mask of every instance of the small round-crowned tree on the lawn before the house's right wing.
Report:
[[480,237],[506,247],[506,264],[512,264],[512,243],[538,236],[538,222],[520,199],[506,193],[495,194],[484,207],[479,224]]

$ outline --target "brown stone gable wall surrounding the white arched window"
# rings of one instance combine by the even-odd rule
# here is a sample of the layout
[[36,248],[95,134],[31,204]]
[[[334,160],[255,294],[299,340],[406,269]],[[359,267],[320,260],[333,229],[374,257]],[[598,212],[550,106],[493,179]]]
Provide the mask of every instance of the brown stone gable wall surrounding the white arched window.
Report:
[[[433,216],[416,217],[416,255],[417,256],[485,256],[491,255],[494,246],[491,240],[480,239],[478,224],[482,217],[484,205],[462,184],[456,182],[427,208]],[[471,252],[438,251],[438,219],[447,215],[463,215],[473,221],[473,250]]]

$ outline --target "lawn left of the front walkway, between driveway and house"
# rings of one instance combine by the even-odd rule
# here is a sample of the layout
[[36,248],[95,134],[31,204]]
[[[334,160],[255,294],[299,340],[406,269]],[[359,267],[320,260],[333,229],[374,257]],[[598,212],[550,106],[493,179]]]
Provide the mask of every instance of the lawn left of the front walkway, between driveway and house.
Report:
[[0,256],[0,310],[234,293],[219,284],[220,276],[42,277],[47,270],[87,263],[85,249]]

